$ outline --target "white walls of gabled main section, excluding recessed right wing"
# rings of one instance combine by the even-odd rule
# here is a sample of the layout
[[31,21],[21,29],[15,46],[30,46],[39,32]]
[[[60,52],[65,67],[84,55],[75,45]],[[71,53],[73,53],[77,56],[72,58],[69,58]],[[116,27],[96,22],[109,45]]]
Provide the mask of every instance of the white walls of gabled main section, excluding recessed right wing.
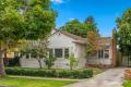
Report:
[[[64,49],[68,48],[69,49],[69,53],[70,54],[74,54],[74,57],[78,58],[79,60],[79,69],[80,67],[84,67],[86,60],[84,59],[84,46],[82,45],[75,45],[74,44],[74,39],[61,34],[61,33],[56,33],[53,34],[49,39],[49,45],[48,48],[52,48],[52,49]],[[43,66],[45,67],[45,63],[43,62]],[[22,67],[38,67],[38,62],[36,59],[25,59],[25,57],[23,57],[21,59],[21,66]],[[70,61],[69,59],[64,59],[63,58],[57,58],[57,60],[55,61],[55,65],[52,66],[52,69],[70,69]]]

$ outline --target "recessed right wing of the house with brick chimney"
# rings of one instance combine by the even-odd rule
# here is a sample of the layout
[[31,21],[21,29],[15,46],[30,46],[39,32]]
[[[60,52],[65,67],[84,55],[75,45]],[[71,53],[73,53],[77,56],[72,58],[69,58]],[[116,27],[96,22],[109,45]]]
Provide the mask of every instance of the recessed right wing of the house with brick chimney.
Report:
[[98,50],[96,54],[87,58],[88,65],[104,65],[114,67],[116,65],[116,45],[111,37],[102,37],[100,45],[103,49]]

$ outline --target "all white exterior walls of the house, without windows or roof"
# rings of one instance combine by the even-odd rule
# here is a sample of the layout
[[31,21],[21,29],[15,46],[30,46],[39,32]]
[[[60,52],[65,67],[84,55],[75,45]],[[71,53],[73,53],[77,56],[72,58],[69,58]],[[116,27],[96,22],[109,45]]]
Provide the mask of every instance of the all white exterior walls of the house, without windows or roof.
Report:
[[[85,64],[104,64],[104,65],[111,65],[112,64],[112,51],[111,51],[111,45],[109,46],[109,58],[108,59],[98,59],[98,54],[85,58],[85,50],[86,46],[82,44],[76,44],[74,39],[68,37],[64,34],[56,33],[48,39],[49,45],[48,48],[50,49],[69,49],[69,53],[74,54],[74,57],[78,59],[78,67],[82,69],[85,67]],[[64,53],[63,53],[64,54]],[[46,67],[44,60],[41,60],[43,67]],[[38,61],[36,59],[25,59],[23,57],[21,59],[21,66],[22,67],[39,67]],[[70,69],[70,60],[62,58],[57,58],[55,61],[55,65],[52,69]]]

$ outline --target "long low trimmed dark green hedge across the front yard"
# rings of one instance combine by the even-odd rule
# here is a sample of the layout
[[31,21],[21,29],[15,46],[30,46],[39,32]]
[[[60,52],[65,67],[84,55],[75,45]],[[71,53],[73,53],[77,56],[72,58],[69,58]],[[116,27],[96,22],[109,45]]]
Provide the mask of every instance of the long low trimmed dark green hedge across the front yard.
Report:
[[90,78],[93,76],[92,70],[34,70],[34,69],[5,69],[8,75],[60,77],[60,78]]

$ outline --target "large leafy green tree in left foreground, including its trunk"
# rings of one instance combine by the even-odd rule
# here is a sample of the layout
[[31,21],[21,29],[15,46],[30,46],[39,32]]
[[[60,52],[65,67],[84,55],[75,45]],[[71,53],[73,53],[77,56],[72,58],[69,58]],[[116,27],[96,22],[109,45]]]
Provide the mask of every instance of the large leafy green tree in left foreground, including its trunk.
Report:
[[49,0],[0,0],[0,75],[5,75],[3,54],[20,40],[45,38],[55,26]]

